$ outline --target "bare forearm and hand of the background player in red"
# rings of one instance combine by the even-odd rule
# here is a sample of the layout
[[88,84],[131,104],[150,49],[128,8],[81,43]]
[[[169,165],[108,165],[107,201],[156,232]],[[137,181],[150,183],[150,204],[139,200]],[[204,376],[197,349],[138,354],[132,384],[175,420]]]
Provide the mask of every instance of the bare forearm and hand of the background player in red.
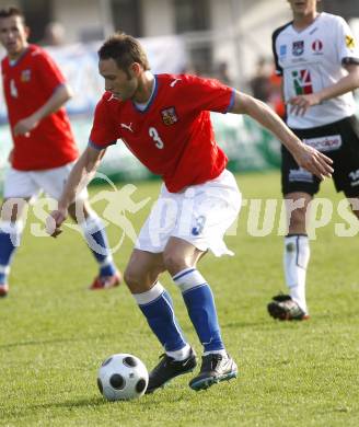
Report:
[[67,84],[59,85],[47,102],[28,117],[19,120],[14,126],[14,135],[26,135],[46,116],[57,112],[72,97],[72,91]]

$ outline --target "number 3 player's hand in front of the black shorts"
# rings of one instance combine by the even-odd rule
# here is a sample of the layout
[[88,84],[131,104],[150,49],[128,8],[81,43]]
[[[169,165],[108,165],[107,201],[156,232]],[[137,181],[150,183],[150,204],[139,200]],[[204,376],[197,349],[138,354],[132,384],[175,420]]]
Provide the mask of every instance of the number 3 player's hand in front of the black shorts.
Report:
[[296,150],[292,154],[301,168],[313,173],[320,180],[332,177],[332,173],[334,172],[332,168],[333,160],[315,150],[315,148],[301,142],[299,150]]

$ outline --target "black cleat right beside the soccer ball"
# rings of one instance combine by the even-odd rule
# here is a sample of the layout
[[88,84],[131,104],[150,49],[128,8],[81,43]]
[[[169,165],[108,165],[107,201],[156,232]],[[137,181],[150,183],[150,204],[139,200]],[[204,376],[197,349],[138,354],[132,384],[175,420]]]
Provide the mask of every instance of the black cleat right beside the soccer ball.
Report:
[[160,358],[162,360],[150,372],[146,394],[153,393],[175,377],[192,372],[197,366],[196,353],[193,348],[184,360],[175,360],[166,354],[161,355]]

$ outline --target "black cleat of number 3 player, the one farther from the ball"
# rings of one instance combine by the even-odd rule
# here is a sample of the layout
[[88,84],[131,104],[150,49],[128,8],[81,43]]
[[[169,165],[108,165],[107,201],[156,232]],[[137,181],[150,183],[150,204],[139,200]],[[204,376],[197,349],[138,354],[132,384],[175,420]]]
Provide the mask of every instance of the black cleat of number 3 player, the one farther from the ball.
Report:
[[220,381],[236,378],[238,367],[230,355],[223,357],[219,354],[202,356],[202,365],[197,377],[189,381],[190,389],[206,390]]

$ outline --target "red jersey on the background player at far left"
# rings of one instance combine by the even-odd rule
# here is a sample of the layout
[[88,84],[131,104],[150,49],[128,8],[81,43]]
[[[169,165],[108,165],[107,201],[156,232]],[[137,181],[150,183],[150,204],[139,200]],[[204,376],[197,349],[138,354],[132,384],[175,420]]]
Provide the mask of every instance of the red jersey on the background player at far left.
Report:
[[14,142],[12,166],[35,171],[62,166],[77,159],[78,149],[65,108],[45,118],[28,134],[14,136],[15,124],[43,106],[65,78],[49,55],[30,45],[16,62],[5,57],[2,82]]

